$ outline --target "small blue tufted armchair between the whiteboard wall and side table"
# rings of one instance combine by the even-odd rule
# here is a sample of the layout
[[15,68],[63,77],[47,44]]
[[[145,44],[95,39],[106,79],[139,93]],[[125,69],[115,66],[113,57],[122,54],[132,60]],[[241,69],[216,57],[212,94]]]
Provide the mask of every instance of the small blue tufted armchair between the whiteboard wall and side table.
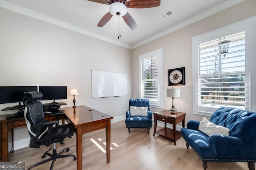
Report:
[[[131,115],[131,106],[132,107],[146,107],[147,113],[146,115]],[[126,111],[126,119],[125,125],[128,128],[128,132],[130,133],[130,128],[147,128],[148,134],[149,130],[152,127],[152,112],[150,111],[150,105],[148,99],[130,99],[129,100],[129,110]]]

